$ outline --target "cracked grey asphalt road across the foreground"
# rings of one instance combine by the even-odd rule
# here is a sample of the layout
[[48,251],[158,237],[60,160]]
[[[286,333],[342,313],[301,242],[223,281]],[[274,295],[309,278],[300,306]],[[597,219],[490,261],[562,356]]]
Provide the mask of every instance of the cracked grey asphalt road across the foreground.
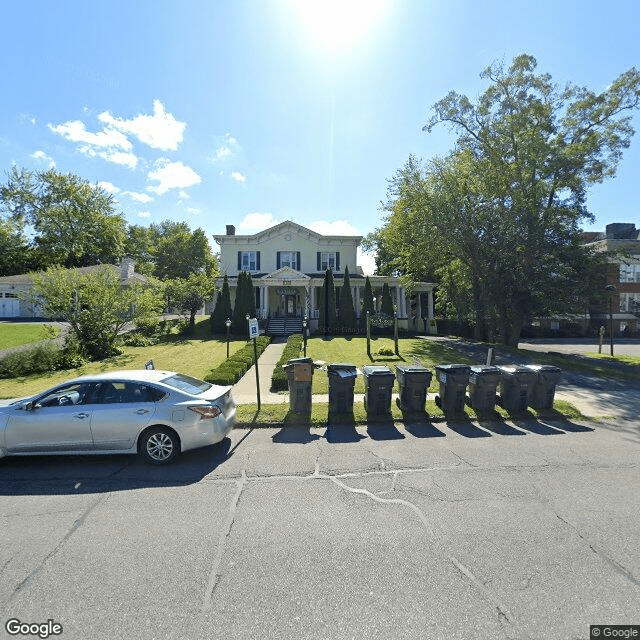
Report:
[[639,463],[628,421],[235,430],[167,468],[1,460],[2,633],[588,638],[640,624]]

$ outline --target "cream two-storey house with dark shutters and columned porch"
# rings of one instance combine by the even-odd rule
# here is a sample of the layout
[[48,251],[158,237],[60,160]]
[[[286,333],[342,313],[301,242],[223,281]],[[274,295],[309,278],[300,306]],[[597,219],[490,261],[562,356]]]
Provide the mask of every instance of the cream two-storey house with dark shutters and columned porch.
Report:
[[[349,268],[351,296],[359,318],[364,296],[365,276],[357,265],[361,236],[324,236],[295,222],[282,222],[254,235],[240,236],[227,225],[226,235],[214,236],[220,245],[220,269],[227,275],[234,304],[237,276],[248,271],[255,287],[257,315],[272,318],[307,316],[310,329],[318,327],[320,290],[326,269],[333,271],[336,297],[339,297],[345,267]],[[424,331],[433,318],[431,283],[416,283],[408,298],[399,278],[369,276],[376,309],[380,308],[382,287],[391,290],[398,325]],[[218,281],[218,289],[222,278]],[[426,322],[425,322],[426,321]]]

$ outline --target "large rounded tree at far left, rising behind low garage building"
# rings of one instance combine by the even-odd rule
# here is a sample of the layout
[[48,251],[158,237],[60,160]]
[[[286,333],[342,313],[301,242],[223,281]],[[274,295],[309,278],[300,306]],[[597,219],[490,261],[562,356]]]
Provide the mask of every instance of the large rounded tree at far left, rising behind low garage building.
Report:
[[33,229],[40,267],[115,263],[124,255],[126,222],[113,196],[79,176],[13,167],[0,198],[5,214]]

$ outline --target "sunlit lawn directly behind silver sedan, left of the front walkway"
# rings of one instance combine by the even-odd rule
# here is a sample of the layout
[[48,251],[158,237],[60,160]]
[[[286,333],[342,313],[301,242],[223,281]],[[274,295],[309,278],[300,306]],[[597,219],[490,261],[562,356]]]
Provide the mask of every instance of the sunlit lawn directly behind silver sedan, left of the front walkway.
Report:
[[[0,380],[0,398],[27,396],[42,391],[69,378],[112,371],[115,369],[143,369],[145,362],[153,360],[156,369],[179,371],[196,378],[204,377],[227,357],[226,339],[207,337],[209,319],[198,323],[195,337],[186,340],[169,336],[150,347],[122,347],[124,353],[100,362],[91,362],[79,369],[54,371],[48,374]],[[246,340],[232,340],[229,353],[241,349]]]

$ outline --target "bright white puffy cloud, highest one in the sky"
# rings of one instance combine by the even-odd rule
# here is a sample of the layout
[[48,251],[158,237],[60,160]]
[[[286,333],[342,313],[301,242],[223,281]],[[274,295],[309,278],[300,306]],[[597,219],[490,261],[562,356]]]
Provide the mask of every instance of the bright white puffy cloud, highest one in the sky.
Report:
[[123,120],[104,111],[98,116],[100,122],[108,127],[134,135],[140,142],[153,149],[170,149],[175,151],[182,142],[186,122],[176,120],[167,113],[160,100],[153,101],[153,115],[140,114],[131,120]]

